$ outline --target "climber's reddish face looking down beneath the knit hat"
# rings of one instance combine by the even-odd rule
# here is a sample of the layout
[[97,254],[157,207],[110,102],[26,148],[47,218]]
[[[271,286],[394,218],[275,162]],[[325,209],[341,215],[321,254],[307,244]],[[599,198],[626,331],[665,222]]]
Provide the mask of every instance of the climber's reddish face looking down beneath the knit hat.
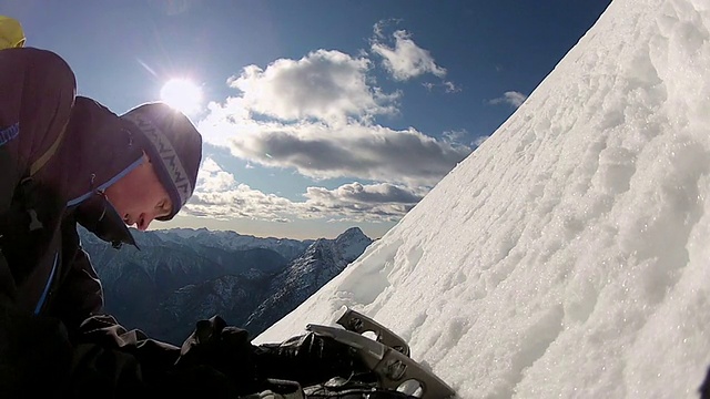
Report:
[[154,218],[170,215],[172,203],[158,180],[153,164],[146,155],[144,162],[115,182],[105,194],[123,217],[123,222],[145,231]]

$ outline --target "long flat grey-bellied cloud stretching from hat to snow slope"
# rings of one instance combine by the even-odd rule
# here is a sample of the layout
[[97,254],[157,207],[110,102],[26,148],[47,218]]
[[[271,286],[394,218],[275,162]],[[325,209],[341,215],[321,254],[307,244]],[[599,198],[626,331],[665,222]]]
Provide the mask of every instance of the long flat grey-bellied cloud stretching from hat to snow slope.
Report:
[[233,155],[248,162],[295,168],[313,178],[433,185],[471,152],[469,146],[436,140],[412,127],[397,131],[359,123],[237,122],[219,117],[224,114],[229,113],[213,113],[201,123],[207,140],[226,142]]

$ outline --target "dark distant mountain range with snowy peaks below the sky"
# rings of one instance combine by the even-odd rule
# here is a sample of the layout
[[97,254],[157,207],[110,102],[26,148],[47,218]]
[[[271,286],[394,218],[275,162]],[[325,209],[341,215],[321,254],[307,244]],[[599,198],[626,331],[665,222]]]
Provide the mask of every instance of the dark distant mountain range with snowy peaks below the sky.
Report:
[[258,335],[373,242],[357,227],[335,239],[316,241],[204,228],[131,232],[138,248],[116,250],[79,229],[101,278],[104,310],[129,329],[174,345],[182,344],[197,320],[214,315]]

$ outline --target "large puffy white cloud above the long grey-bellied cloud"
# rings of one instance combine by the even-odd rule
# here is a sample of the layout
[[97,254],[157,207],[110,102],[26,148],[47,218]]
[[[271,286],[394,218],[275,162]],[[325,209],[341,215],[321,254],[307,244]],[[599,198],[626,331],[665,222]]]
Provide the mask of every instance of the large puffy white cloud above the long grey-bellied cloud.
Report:
[[280,59],[244,68],[229,84],[242,91],[244,110],[284,121],[342,121],[396,112],[399,93],[385,94],[368,82],[371,61],[317,50],[301,60]]

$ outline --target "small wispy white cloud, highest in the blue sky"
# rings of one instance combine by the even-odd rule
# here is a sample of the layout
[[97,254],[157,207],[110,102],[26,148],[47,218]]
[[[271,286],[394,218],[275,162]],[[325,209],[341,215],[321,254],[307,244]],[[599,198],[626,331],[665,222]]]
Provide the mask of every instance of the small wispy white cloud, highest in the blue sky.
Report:
[[394,48],[390,48],[381,42],[384,38],[382,28],[382,23],[375,24],[375,39],[371,49],[384,59],[384,65],[394,79],[406,81],[425,73],[432,73],[438,78],[446,75],[446,69],[437,65],[432,54],[418,47],[407,31],[395,31]]

